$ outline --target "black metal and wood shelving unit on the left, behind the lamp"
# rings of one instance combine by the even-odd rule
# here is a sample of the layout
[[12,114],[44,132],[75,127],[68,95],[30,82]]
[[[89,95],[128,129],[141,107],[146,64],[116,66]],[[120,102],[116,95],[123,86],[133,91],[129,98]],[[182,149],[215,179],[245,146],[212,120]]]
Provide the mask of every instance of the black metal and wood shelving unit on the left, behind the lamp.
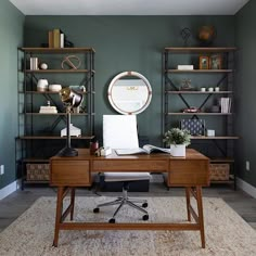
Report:
[[[16,165],[22,172],[22,188],[25,183],[48,183],[48,180],[27,180],[26,164],[48,164],[49,158],[64,145],[61,129],[66,126],[66,113],[57,92],[37,91],[40,78],[49,84],[64,84],[86,88],[82,111],[73,113],[72,118],[79,124],[81,137],[72,138],[74,146],[89,146],[94,137],[94,54],[93,48],[18,48],[18,136],[16,138]],[[62,68],[62,61],[75,55],[81,61],[76,69]],[[47,62],[48,69],[30,69],[30,57]],[[56,114],[41,114],[39,106],[50,101]],[[44,104],[43,104],[44,103]],[[76,125],[75,125],[76,126]]]

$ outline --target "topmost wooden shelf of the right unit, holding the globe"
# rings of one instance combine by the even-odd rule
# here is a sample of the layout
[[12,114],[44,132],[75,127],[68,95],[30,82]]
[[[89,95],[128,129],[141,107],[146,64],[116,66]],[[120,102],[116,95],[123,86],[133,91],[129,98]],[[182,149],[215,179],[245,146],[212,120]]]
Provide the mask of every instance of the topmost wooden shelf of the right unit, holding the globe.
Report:
[[221,52],[233,52],[236,51],[238,48],[235,47],[209,47],[209,48],[204,48],[204,47],[167,47],[165,48],[166,52],[172,52],[172,53],[221,53]]

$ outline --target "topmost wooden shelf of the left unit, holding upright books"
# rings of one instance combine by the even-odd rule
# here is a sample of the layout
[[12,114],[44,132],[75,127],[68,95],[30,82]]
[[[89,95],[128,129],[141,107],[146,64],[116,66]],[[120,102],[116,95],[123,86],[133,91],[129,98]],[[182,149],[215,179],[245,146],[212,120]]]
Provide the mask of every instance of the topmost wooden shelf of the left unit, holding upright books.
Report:
[[95,52],[93,48],[18,48],[27,53],[82,53],[82,52]]

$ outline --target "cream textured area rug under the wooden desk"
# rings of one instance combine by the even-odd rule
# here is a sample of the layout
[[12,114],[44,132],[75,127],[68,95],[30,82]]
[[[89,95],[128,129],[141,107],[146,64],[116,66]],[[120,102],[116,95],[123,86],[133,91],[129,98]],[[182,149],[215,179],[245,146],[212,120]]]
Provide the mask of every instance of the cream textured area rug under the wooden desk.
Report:
[[[115,207],[93,214],[104,196],[76,199],[76,221],[107,221]],[[149,221],[187,221],[183,197],[150,197]],[[194,202],[193,202],[194,203]],[[201,247],[199,231],[60,231],[59,247],[52,246],[55,199],[40,197],[0,233],[1,256],[253,256],[256,255],[256,231],[222,200],[204,197],[206,248]],[[141,214],[126,206],[116,221],[142,221]]]

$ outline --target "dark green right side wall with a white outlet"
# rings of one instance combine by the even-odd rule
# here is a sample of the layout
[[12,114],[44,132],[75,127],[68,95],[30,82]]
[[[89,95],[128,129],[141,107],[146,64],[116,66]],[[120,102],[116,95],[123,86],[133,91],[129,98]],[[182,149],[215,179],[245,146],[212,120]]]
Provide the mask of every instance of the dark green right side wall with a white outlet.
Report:
[[[241,136],[238,142],[236,159],[239,176],[256,187],[256,1],[251,0],[235,15],[235,42],[238,52],[236,76],[236,130]],[[245,170],[245,161],[249,161],[251,170]]]

